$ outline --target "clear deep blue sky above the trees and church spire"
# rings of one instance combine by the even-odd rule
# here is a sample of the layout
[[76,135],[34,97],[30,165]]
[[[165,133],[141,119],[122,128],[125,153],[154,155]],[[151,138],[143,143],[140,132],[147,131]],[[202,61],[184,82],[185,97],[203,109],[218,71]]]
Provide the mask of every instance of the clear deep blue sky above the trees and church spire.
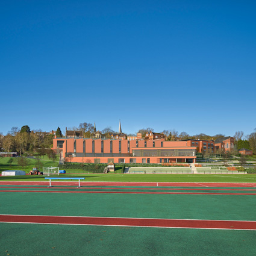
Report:
[[1,1],[0,131],[256,127],[254,1]]

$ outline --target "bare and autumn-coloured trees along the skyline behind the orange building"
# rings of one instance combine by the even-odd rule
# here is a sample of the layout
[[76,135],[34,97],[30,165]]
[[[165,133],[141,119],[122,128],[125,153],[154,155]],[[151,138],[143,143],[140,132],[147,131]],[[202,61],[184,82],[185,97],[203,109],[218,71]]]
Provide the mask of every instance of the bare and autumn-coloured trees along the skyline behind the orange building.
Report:
[[[90,138],[95,134],[95,129],[92,123],[80,123],[79,126],[73,126],[69,130],[83,131],[83,137]],[[137,131],[141,133],[142,137],[145,137],[146,133],[149,131],[154,132],[153,128],[142,128]],[[105,138],[110,138],[111,133],[117,133],[113,131],[110,127],[104,128],[101,131],[102,136]],[[136,133],[136,134],[137,134]],[[208,134],[200,133],[196,135],[189,135],[185,131],[178,133],[176,130],[163,130],[166,136],[166,140],[177,141],[177,140],[216,140],[221,137],[225,137],[224,134],[216,134],[210,136]],[[136,134],[127,134],[128,136],[136,136]],[[57,137],[63,137],[60,127],[56,131]],[[234,134],[235,147],[234,150],[239,150],[241,148],[251,149],[254,154],[256,154],[256,128],[253,133],[245,135],[243,131],[237,131]],[[44,151],[45,149],[51,149],[53,143],[54,135],[43,133],[42,130],[31,131],[28,125],[22,126],[22,128],[13,127],[5,136],[0,133],[0,151],[16,151],[22,155],[24,152],[38,152]],[[46,153],[45,153],[46,154]]]

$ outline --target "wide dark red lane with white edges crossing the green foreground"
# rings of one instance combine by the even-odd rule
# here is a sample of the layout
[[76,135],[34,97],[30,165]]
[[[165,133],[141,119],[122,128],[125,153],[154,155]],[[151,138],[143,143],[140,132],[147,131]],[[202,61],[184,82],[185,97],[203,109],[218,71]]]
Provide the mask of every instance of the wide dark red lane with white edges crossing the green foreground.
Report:
[[140,226],[152,228],[203,228],[203,229],[243,229],[256,230],[256,221],[245,220],[188,220],[188,219],[140,219],[119,217],[71,217],[0,215],[4,223],[40,223],[63,225],[99,226]]

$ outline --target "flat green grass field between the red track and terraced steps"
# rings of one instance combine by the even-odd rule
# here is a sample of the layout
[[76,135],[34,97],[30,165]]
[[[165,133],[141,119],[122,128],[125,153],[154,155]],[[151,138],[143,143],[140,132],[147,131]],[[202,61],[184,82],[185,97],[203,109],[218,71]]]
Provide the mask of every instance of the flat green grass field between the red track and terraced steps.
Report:
[[[86,181],[122,182],[195,182],[195,183],[256,183],[256,174],[123,174],[81,173],[60,174],[60,177],[81,176]],[[8,181],[45,181],[43,176],[0,176]]]

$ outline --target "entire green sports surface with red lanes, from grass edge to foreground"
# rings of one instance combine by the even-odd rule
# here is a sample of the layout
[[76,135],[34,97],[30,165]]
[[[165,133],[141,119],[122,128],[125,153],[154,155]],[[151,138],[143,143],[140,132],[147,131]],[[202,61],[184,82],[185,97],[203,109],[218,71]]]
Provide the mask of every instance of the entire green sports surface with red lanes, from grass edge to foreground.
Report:
[[1,181],[0,255],[256,255],[256,183]]

